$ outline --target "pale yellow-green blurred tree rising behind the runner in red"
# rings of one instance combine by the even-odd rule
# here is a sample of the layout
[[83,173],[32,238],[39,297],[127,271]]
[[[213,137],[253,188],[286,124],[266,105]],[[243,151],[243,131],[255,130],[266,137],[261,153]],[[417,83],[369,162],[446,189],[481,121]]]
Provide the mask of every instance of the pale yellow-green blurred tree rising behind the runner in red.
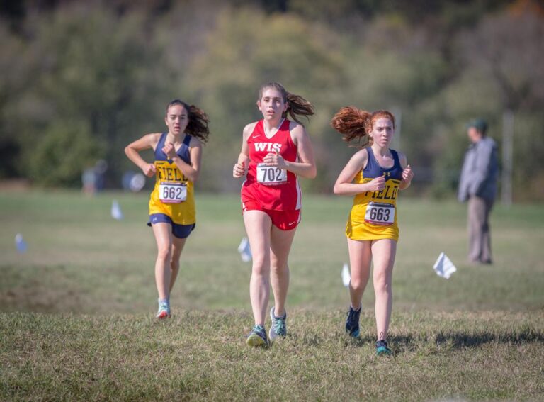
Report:
[[244,125],[262,118],[256,108],[257,91],[266,82],[281,82],[327,116],[319,124],[313,119],[307,124],[314,143],[319,142],[316,139],[329,130],[331,116],[323,108],[330,105],[331,94],[346,85],[342,55],[331,44],[332,33],[294,16],[266,16],[257,9],[222,11],[209,33],[208,51],[188,72],[190,88],[215,122],[206,160],[206,169],[214,176],[203,177],[206,186],[220,190],[239,186],[229,168],[237,159]]

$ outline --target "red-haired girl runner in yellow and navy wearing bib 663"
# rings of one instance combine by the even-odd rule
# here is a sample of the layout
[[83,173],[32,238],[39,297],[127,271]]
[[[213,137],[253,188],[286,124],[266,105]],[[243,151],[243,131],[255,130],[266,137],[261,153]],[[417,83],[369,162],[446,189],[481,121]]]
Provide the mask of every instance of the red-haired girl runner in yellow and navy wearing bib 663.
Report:
[[[346,332],[359,336],[361,300],[373,262],[377,354],[391,354],[387,331],[392,309],[392,274],[399,240],[397,225],[398,191],[406,189],[414,174],[406,156],[391,150],[395,117],[389,111],[370,113],[353,106],[341,108],[331,125],[346,143],[356,141],[356,152],[339,174],[334,194],[354,196],[346,225],[351,281],[351,306]],[[370,146],[368,146],[370,145]]]

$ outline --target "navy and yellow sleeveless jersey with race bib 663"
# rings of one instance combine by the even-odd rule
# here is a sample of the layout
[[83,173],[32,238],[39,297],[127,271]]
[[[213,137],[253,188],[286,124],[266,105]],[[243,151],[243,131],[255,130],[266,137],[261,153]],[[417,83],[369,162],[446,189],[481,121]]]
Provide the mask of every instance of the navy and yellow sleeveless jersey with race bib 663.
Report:
[[382,191],[365,191],[353,198],[353,206],[346,225],[346,236],[353,240],[399,240],[397,225],[397,194],[402,181],[402,167],[399,155],[391,150],[394,164],[390,168],[381,167],[374,157],[372,148],[366,148],[368,162],[358,172],[353,183],[368,183],[375,177],[385,175],[385,188]]

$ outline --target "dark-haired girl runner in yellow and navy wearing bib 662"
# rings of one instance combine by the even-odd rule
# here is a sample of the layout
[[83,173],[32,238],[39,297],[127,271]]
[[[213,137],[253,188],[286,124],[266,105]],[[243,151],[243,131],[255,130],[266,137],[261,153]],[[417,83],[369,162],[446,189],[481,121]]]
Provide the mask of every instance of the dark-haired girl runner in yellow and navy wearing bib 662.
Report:
[[[157,241],[155,281],[159,293],[157,318],[171,316],[170,293],[179,272],[179,258],[188,235],[195,228],[193,183],[198,179],[202,143],[208,141],[208,116],[194,105],[174,99],[166,106],[168,131],[152,133],[125,148],[128,158],[147,177],[156,177],[149,198],[149,223]],[[154,150],[154,163],[140,151]]]

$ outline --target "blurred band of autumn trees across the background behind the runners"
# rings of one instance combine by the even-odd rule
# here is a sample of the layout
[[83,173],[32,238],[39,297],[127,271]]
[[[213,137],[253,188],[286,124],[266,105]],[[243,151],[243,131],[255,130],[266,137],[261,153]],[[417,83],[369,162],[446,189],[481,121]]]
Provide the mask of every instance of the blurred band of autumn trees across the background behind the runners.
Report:
[[395,147],[416,172],[413,194],[455,189],[465,123],[487,118],[500,144],[515,118],[515,199],[544,199],[544,9],[537,1],[317,0],[0,3],[0,178],[80,186],[123,147],[164,129],[176,97],[209,114],[200,189],[234,191],[230,167],[259,85],[305,96],[319,174],[330,192],[353,150],[329,127],[354,104],[399,119]]

